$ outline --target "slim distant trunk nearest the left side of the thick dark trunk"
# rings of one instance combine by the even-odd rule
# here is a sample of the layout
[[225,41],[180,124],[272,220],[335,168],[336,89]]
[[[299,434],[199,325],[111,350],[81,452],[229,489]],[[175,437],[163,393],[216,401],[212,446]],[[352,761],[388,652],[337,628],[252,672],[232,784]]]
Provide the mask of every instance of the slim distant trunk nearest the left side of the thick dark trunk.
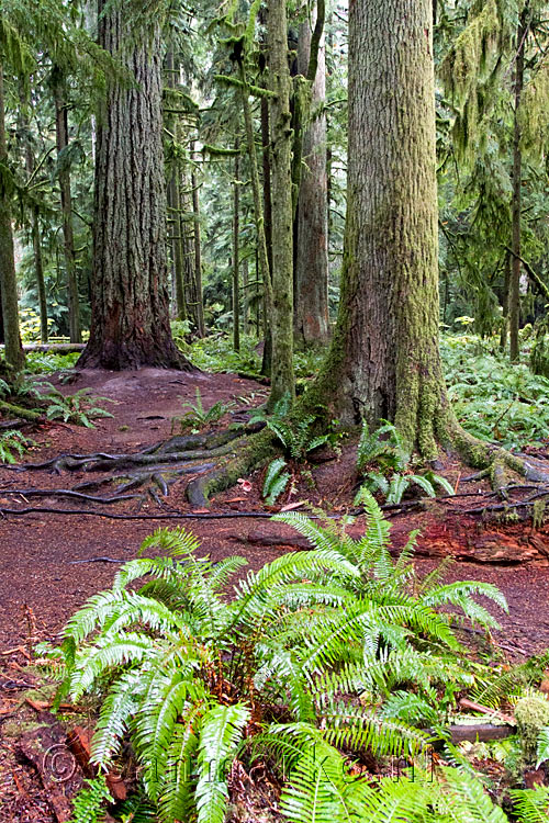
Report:
[[[68,117],[65,83],[60,69],[54,66],[52,81],[55,102],[55,134],[57,143],[57,158],[68,148]],[[63,248],[65,252],[65,268],[67,274],[67,294],[69,311],[70,342],[81,342],[80,329],[80,298],[78,296],[78,277],[76,271],[75,237],[72,233],[72,199],[70,194],[70,171],[66,162],[59,164],[59,190],[61,195],[63,214]]]

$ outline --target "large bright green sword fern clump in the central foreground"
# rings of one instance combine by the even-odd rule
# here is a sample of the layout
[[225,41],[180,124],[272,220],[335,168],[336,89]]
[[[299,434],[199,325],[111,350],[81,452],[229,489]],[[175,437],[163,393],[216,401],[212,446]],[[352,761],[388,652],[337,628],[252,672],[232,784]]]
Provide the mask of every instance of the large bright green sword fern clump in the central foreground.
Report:
[[[126,563],[112,589],[65,627],[58,699],[100,698],[92,763],[109,768],[130,741],[159,821],[222,823],[235,757],[269,754],[296,791],[316,768],[311,747],[326,758],[323,776],[314,775],[333,805],[325,775],[346,774],[348,753],[413,757],[453,694],[472,685],[451,618],[438,607],[459,606],[493,625],[473,595],[505,601],[479,583],[415,582],[414,535],[393,561],[389,525],[371,496],[367,508],[358,540],[334,523],[278,516],[312,550],[248,571],[231,597],[243,557],[214,564],[191,533],[159,530],[142,545],[142,554],[159,556]],[[417,697],[415,711],[404,710],[404,695]],[[284,808],[293,820],[291,791]]]

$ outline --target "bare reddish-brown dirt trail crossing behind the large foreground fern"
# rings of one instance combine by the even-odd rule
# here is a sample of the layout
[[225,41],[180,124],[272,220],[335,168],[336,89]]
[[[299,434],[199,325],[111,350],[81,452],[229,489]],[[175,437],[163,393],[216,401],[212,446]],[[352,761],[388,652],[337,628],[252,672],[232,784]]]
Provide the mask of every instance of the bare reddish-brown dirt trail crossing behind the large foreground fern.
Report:
[[[130,452],[170,436],[171,419],[181,414],[181,397],[194,402],[195,388],[200,387],[204,407],[216,401],[234,401],[243,406],[243,398],[257,405],[265,396],[265,386],[228,374],[182,374],[176,371],[144,369],[137,372],[112,373],[82,371],[70,385],[61,387],[72,393],[83,386],[91,386],[98,395],[110,397],[115,403],[109,405],[113,419],[100,419],[96,429],[53,424],[41,429],[35,437],[40,448],[30,460],[38,462],[63,452],[90,453],[94,451]],[[228,421],[228,417],[225,422]],[[452,469],[450,466],[449,475]],[[457,470],[455,470],[456,475]],[[352,454],[344,452],[338,462],[326,463],[315,470],[318,488],[313,494],[317,504],[330,506],[347,504],[352,485]],[[0,467],[0,504],[13,506],[13,497],[7,491],[14,488],[47,487],[67,488],[78,482],[89,480],[83,473],[13,472]],[[164,503],[164,511],[190,511],[184,499],[187,478],[177,481],[171,494]],[[262,505],[258,499],[259,476],[253,478],[253,489],[248,494],[232,489],[214,501],[213,510],[257,510]],[[3,495],[2,495],[3,492]],[[300,495],[306,495],[306,488]],[[19,504],[23,503],[19,498]],[[56,506],[59,508],[86,508],[61,499],[32,500],[33,506]],[[116,512],[135,512],[139,504],[135,500],[116,504]],[[469,505],[469,504],[468,504]],[[139,514],[158,515],[161,509],[153,500],[145,501]],[[109,587],[116,565],[105,562],[76,563],[97,556],[128,560],[135,556],[141,541],[154,529],[173,527],[177,520],[111,520],[101,517],[78,515],[74,517],[33,514],[0,520],[0,651],[21,644],[27,634],[27,611],[32,609],[36,633],[42,638],[54,638],[65,620],[87,597],[101,588]],[[284,550],[284,538],[279,544],[261,545],[251,543],[247,535],[261,529],[272,534],[273,525],[265,521],[231,520],[184,520],[202,540],[204,553],[214,561],[229,554],[243,554],[253,568],[260,567]],[[446,548],[456,542],[457,535],[463,545],[484,541],[486,535],[473,521],[459,520],[442,514],[426,520],[426,516],[400,517],[394,526],[396,544],[401,544],[412,528],[424,528],[421,553],[433,549],[445,553]],[[497,554],[497,546],[505,544],[509,530],[491,533],[488,541],[492,549],[482,549],[484,560]],[[513,527],[511,531],[523,534],[525,556],[533,540],[538,540],[530,527]],[[467,532],[467,535],[463,533]],[[280,533],[280,532],[279,532]],[[287,532],[289,534],[289,532]],[[537,533],[536,533],[537,534]],[[526,537],[524,537],[526,535]],[[467,540],[466,540],[467,537]],[[523,539],[522,538],[522,539]],[[541,535],[544,538],[544,535]],[[530,542],[528,542],[530,541]],[[545,546],[547,539],[544,538]],[[496,546],[495,549],[493,546]],[[445,548],[446,546],[446,548]],[[460,556],[468,556],[468,549]],[[545,551],[545,549],[544,549]],[[484,552],[484,554],[482,554]],[[459,552],[458,552],[459,554]],[[539,559],[538,559],[539,560]],[[419,560],[418,567],[427,571],[434,565],[430,560]],[[501,638],[515,650],[533,653],[549,647],[549,568],[542,561],[535,565],[513,567],[478,565],[458,562],[448,574],[449,579],[475,578],[495,583],[507,597],[509,617],[502,620]],[[514,656],[515,656],[514,655]]]

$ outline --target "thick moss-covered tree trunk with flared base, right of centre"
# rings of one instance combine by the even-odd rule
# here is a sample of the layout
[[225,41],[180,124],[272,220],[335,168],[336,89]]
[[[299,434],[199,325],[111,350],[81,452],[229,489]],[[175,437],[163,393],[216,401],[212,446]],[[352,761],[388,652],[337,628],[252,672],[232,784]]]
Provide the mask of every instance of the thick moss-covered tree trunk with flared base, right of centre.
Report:
[[436,454],[448,419],[438,349],[432,0],[349,7],[349,169],[341,297],[311,402],[395,422]]

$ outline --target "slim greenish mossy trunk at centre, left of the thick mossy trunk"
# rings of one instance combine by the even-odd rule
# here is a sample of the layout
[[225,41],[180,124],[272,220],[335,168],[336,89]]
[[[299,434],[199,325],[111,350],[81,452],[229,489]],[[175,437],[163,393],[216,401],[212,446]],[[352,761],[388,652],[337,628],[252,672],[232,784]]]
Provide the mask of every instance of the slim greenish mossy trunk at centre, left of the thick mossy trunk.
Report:
[[291,78],[285,0],[270,0],[267,21],[272,185],[272,368],[270,408],[295,393],[293,374],[293,206]]

